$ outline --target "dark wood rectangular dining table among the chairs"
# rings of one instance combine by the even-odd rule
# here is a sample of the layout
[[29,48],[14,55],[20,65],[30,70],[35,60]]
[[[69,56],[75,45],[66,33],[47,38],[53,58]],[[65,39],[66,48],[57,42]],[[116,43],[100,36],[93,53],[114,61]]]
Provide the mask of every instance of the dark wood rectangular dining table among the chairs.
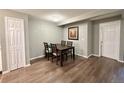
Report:
[[75,47],[74,46],[62,46],[61,44],[56,44],[57,49],[60,52],[60,66],[63,66],[63,53],[72,49],[73,52],[73,60],[75,60]]

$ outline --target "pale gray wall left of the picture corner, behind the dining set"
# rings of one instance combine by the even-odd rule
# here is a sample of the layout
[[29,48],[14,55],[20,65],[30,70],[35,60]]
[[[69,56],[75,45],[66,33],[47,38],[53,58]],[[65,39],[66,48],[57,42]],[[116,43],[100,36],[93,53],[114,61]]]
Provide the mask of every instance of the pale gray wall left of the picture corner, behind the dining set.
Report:
[[60,43],[63,28],[57,24],[29,17],[30,58],[44,55],[43,42]]

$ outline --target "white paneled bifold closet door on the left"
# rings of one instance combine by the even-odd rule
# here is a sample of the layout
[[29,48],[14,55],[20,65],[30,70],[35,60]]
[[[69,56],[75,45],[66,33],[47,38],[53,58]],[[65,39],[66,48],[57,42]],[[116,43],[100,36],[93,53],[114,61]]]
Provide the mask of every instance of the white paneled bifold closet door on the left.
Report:
[[14,70],[25,65],[24,20],[5,17],[6,55],[8,68]]

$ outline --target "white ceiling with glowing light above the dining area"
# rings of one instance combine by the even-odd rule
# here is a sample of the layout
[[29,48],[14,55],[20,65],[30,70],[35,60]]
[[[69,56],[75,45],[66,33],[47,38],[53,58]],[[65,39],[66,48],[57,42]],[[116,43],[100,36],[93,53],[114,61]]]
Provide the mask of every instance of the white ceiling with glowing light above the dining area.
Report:
[[[16,9],[14,11],[26,13],[28,15],[56,22],[61,23],[65,20],[76,18],[83,15],[90,15],[91,13],[94,14],[96,12],[103,12],[113,11],[112,9]],[[115,11],[115,10],[114,10]],[[116,10],[117,11],[117,10]]]

